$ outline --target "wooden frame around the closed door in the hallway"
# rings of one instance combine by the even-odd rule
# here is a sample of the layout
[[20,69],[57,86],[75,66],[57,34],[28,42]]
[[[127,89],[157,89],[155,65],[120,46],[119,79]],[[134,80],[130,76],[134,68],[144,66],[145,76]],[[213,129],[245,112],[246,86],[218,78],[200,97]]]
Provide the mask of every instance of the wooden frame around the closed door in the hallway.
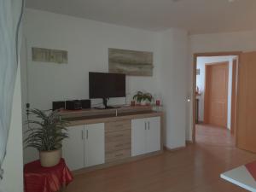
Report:
[[[210,115],[209,115],[209,108],[210,108],[210,97],[209,97],[209,82],[210,82],[210,79],[209,79],[209,74],[208,74],[208,71],[210,70],[210,67],[212,66],[218,66],[218,65],[225,65],[228,69],[228,77],[227,79],[229,79],[229,61],[220,61],[220,62],[211,62],[211,63],[206,63],[206,66],[205,66],[205,94],[204,94],[204,123],[208,123],[209,122],[209,119],[210,119]],[[233,81],[233,80],[232,80]],[[228,81],[229,82],[229,81]],[[227,85],[229,84],[227,82]],[[226,93],[226,108],[228,109],[228,101],[229,101],[229,94],[228,94],[229,90],[228,90],[228,87],[227,87],[227,93]],[[207,108],[207,110],[206,110]],[[226,125],[224,126],[225,128],[227,128],[227,117],[228,117],[228,110],[227,110],[227,113],[226,113],[226,119],[225,119],[225,123]]]

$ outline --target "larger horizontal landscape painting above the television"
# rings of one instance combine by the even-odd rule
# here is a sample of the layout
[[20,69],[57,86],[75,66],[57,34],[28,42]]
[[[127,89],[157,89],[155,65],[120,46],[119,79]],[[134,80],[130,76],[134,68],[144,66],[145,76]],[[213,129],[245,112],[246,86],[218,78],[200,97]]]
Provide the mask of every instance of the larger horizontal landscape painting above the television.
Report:
[[153,53],[126,49],[108,49],[109,73],[131,76],[153,75]]

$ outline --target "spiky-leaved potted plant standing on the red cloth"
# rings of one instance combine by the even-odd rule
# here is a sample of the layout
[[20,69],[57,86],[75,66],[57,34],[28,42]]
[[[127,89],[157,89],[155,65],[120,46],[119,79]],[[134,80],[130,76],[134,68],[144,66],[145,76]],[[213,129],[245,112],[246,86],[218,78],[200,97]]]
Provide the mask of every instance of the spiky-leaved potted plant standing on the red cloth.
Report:
[[39,109],[29,110],[29,115],[35,119],[28,119],[26,147],[37,148],[41,166],[57,165],[61,160],[61,141],[67,138],[67,121],[61,119],[57,111],[49,114]]

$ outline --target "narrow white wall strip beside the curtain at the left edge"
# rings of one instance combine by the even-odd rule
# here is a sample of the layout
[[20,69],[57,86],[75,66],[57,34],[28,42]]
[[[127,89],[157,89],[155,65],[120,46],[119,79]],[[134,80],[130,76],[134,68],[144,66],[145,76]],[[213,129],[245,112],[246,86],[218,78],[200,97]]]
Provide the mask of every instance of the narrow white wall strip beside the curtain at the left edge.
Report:
[[22,160],[22,122],[21,122],[21,90],[20,67],[18,68],[13,100],[12,119],[9,130],[7,154],[3,161],[3,181],[0,191],[23,191],[23,160]]

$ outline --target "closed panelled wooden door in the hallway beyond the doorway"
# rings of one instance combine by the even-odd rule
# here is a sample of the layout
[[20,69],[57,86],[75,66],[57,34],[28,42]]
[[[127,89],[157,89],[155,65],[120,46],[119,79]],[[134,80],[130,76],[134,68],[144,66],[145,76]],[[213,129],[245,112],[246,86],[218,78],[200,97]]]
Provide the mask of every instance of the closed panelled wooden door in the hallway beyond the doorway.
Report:
[[229,62],[206,66],[205,122],[227,127]]

